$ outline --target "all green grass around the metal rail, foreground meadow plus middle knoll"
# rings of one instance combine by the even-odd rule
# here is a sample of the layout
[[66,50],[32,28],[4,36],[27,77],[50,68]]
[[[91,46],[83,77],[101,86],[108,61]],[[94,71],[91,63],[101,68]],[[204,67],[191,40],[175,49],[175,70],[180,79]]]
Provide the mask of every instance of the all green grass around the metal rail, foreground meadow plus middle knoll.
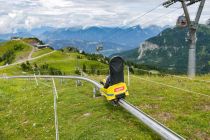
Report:
[[[31,67],[36,64],[41,74],[53,69],[75,75],[77,67],[83,69],[85,65],[89,77],[100,81],[108,68],[100,61],[100,57],[65,49],[29,63]],[[0,69],[2,74],[34,72],[23,71],[17,65]],[[187,139],[208,139],[210,87],[199,80],[209,79],[210,75],[198,76],[195,81],[132,75],[127,100]],[[52,81],[38,79],[38,83],[33,78],[0,79],[0,139],[55,138]],[[60,139],[160,139],[121,107],[112,106],[103,97],[93,99],[93,85],[83,82],[83,86],[76,87],[74,80],[57,79],[56,87]]]

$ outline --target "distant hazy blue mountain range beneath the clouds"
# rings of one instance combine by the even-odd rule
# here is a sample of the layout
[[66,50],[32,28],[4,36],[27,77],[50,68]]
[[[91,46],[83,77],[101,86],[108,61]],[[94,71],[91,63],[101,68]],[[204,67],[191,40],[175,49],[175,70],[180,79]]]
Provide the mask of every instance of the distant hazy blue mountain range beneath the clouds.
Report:
[[[167,26],[166,26],[167,27]],[[37,37],[54,49],[74,46],[88,53],[95,53],[102,44],[102,54],[109,56],[116,52],[136,48],[146,39],[156,36],[166,27],[141,26],[133,27],[88,27],[88,28],[53,28],[40,27],[30,31],[20,29],[16,33],[0,34],[0,39],[11,37]]]

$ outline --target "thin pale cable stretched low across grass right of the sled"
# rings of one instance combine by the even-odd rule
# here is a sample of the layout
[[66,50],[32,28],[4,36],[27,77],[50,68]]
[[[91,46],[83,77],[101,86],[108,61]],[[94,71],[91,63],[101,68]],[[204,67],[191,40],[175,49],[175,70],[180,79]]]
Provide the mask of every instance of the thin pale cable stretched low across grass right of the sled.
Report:
[[191,91],[191,90],[188,90],[188,89],[183,89],[183,88],[175,87],[175,86],[172,86],[172,85],[164,84],[164,83],[161,83],[161,82],[156,82],[156,81],[153,81],[153,80],[149,80],[149,79],[137,77],[137,76],[134,76],[134,75],[132,75],[132,76],[135,77],[135,78],[138,78],[140,80],[151,82],[151,83],[154,83],[154,84],[157,84],[157,85],[162,85],[162,86],[165,86],[165,87],[174,88],[174,89],[181,90],[181,91],[184,91],[184,92],[193,93],[193,94],[197,94],[197,95],[201,95],[201,96],[206,96],[206,97],[209,97],[210,98],[210,95],[207,95],[207,94],[203,94],[203,93]]

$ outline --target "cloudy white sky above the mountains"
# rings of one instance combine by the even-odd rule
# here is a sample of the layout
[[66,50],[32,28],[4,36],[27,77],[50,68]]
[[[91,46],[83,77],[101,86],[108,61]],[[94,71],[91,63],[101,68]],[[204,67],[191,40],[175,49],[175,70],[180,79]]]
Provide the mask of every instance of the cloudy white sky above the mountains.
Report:
[[[183,14],[182,9],[176,10],[181,7],[180,3],[177,3],[167,9],[160,6],[150,14],[138,18],[164,0],[0,0],[0,2],[0,33],[40,26],[174,25],[177,17]],[[198,5],[189,8],[192,15],[197,11],[196,6]],[[209,7],[210,1],[206,0],[201,23],[210,18]],[[167,15],[163,16],[164,14]]]

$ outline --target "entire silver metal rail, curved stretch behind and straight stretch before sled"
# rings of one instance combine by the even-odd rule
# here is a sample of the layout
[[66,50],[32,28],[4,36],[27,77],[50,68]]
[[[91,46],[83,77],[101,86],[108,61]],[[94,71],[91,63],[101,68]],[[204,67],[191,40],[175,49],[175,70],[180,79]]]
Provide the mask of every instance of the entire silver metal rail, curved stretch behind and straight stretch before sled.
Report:
[[[80,77],[80,76],[50,76],[50,75],[37,75],[37,78],[63,78],[63,79],[78,79],[78,80],[85,80],[92,84],[94,84],[97,88],[101,88],[102,86],[89,78]],[[34,76],[9,76],[9,77],[0,77],[0,78],[7,78],[7,79],[18,79],[18,78],[34,78]],[[177,133],[173,132],[171,129],[167,128],[160,122],[156,121],[137,107],[133,106],[132,104],[128,103],[124,99],[119,100],[119,105],[138,118],[141,122],[147,125],[151,130],[157,133],[161,138],[166,140],[184,140],[183,137],[178,135]]]

